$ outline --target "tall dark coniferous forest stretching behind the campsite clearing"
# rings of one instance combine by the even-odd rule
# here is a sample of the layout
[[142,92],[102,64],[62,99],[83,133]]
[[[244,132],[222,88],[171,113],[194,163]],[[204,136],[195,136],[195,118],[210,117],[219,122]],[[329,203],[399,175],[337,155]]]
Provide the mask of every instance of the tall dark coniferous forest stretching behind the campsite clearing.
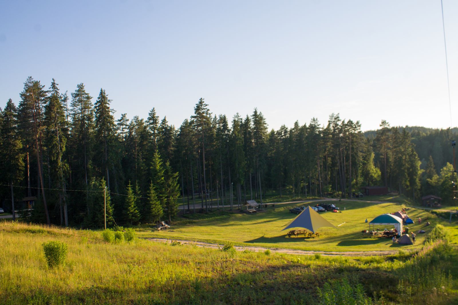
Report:
[[[20,96],[1,109],[0,206],[32,222],[103,227],[106,202],[107,225],[134,225],[170,220],[179,205],[234,209],[272,193],[349,198],[378,185],[453,203],[449,130],[382,121],[363,133],[338,113],[274,130],[256,108],[227,118],[203,98],[175,128],[154,107],[146,119],[115,120],[104,89],[93,97],[81,83],[68,94],[32,77]],[[27,197],[36,197],[30,214]]]

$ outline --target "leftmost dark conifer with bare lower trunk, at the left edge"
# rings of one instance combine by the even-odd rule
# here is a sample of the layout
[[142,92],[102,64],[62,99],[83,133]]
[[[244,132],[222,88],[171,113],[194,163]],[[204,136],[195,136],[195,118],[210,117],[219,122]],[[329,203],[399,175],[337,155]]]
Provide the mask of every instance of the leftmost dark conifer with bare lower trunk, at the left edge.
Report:
[[11,98],[6,103],[5,109],[1,112],[0,120],[0,168],[2,169],[2,179],[10,184],[11,187],[11,213],[13,220],[16,220],[14,206],[13,184],[23,179],[24,154],[22,153],[22,143],[17,129],[17,108]]

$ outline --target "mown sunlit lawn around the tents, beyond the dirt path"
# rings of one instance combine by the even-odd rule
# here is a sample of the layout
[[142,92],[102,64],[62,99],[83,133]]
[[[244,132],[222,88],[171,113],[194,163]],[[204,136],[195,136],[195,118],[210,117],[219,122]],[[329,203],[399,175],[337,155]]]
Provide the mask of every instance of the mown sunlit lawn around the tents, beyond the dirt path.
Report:
[[[193,241],[211,241],[224,244],[233,241],[238,245],[293,248],[317,251],[389,251],[411,250],[421,246],[425,235],[431,230],[432,225],[441,223],[449,226],[454,242],[458,241],[457,228],[448,225],[448,222],[439,219],[436,215],[420,209],[410,208],[402,203],[374,203],[354,201],[333,201],[342,210],[342,213],[326,212],[321,215],[337,229],[323,227],[319,230],[319,238],[286,237],[288,230],[282,231],[285,225],[296,214],[291,214],[289,209],[294,206],[315,205],[313,201],[300,204],[282,204],[274,208],[269,207],[265,212],[255,214],[245,213],[219,213],[189,214],[177,219],[169,230],[157,231],[148,226],[141,226],[137,231],[140,237],[156,237],[170,239],[184,239]],[[411,231],[425,230],[426,234],[417,234],[417,243],[412,246],[393,244],[391,239],[371,238],[361,231],[368,229],[365,219],[373,218],[384,213],[393,213],[406,208],[409,217],[415,220],[414,225],[409,225]],[[226,209],[227,210],[227,209]],[[416,219],[423,219],[421,225]],[[426,226],[427,221],[431,226]],[[380,227],[383,230],[385,227]],[[386,229],[391,227],[386,226]]]

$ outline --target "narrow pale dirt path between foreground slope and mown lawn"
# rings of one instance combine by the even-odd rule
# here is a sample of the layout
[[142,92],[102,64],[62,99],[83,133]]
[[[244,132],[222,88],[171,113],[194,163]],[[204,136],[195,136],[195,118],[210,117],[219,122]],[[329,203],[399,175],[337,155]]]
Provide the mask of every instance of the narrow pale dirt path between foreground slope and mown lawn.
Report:
[[[172,240],[168,238],[147,238],[148,241],[156,241],[156,242],[168,242],[171,243]],[[181,239],[174,239],[173,241],[179,241],[182,244],[193,244],[198,247],[206,247],[211,249],[219,249],[223,247],[223,245],[203,242],[203,241],[185,241]],[[237,251],[266,251],[269,249],[273,253],[285,253],[285,254],[296,254],[296,255],[315,255],[317,253],[325,255],[325,256],[388,256],[394,255],[398,253],[398,250],[390,250],[390,251],[346,251],[346,252],[328,252],[328,251],[305,251],[305,250],[296,250],[296,249],[284,249],[284,248],[265,248],[265,247],[258,247],[258,246],[234,246]]]

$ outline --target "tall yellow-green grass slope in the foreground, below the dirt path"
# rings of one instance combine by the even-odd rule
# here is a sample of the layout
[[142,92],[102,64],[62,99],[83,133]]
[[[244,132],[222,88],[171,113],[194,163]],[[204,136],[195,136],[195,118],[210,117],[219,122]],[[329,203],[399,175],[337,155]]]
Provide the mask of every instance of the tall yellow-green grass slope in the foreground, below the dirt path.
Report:
[[[49,240],[69,245],[65,266],[46,266],[41,244]],[[418,259],[231,254],[144,240],[106,244],[100,232],[11,221],[0,222],[0,244],[0,304],[316,304],[316,287],[343,277],[369,294],[383,293],[384,304],[457,301],[451,287],[448,295],[432,293],[447,283],[442,271],[434,277],[425,270],[429,278],[421,289],[415,281],[424,277],[412,271],[434,265],[456,277],[456,251],[425,251]],[[416,300],[399,299],[402,278]]]

